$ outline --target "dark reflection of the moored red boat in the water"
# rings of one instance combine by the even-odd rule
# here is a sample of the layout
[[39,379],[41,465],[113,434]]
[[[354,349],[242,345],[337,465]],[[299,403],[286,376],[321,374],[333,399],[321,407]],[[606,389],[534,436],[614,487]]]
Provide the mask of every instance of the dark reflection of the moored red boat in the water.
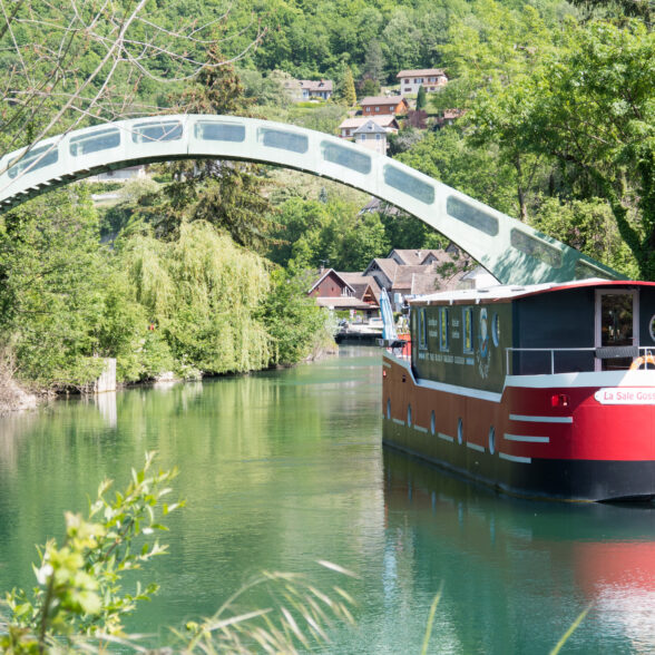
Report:
[[548,652],[592,605],[573,651],[655,652],[653,504],[502,497],[389,449],[384,476],[388,556],[473,651]]

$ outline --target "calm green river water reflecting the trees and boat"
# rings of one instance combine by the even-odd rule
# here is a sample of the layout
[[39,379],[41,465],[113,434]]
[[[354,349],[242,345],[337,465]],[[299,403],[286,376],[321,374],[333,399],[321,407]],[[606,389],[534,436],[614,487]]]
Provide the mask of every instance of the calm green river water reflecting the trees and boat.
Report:
[[63,509],[155,449],[187,507],[131,629],[166,635],[268,569],[354,596],[356,625],[335,626],[326,653],[419,653],[440,585],[431,653],[548,653],[589,604],[564,653],[655,653],[651,506],[517,501],[387,451],[380,379],[375,350],[342,349],[0,420],[0,588],[31,586],[33,544],[61,535]]

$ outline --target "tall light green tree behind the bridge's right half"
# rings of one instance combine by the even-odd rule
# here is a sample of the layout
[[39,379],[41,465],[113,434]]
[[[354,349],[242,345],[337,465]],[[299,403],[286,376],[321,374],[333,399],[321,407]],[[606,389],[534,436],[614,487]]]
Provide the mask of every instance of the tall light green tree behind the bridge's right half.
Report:
[[496,148],[502,165],[515,168],[518,211],[512,214],[527,221],[547,172],[542,157],[522,147],[520,110],[507,98],[509,89],[529,95],[527,79],[554,49],[557,31],[530,6],[515,10],[478,0],[473,9],[476,22],[460,19],[450,29],[442,50],[456,79],[432,95],[432,106],[467,110],[463,123],[470,127],[471,146]]

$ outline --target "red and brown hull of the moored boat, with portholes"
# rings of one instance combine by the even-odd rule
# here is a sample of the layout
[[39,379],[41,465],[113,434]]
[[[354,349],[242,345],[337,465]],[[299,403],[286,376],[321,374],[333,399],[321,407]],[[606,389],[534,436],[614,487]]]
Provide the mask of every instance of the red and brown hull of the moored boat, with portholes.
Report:
[[[383,441],[500,491],[573,501],[655,496],[655,404],[598,400],[602,385],[508,379],[502,393],[417,381],[383,361]],[[598,378],[603,380],[603,378]],[[629,382],[629,381],[628,381]],[[634,379],[633,379],[634,382]],[[653,375],[642,383],[653,382]],[[620,400],[619,395],[619,400]],[[641,398],[641,397],[639,397]]]

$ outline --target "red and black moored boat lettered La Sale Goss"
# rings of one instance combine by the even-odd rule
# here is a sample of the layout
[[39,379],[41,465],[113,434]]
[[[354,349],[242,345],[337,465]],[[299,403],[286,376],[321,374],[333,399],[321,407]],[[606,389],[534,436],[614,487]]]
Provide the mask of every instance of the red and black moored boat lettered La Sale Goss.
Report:
[[410,301],[383,358],[388,446],[505,492],[655,497],[655,283],[585,280]]

